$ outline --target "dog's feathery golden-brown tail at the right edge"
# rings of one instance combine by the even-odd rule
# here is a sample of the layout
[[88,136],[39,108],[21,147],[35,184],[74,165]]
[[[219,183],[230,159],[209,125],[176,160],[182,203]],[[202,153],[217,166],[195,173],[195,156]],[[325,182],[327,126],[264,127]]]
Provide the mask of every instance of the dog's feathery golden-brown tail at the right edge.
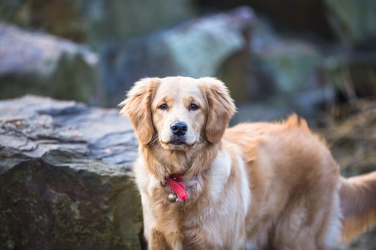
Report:
[[340,181],[341,240],[348,243],[376,225],[376,171]]

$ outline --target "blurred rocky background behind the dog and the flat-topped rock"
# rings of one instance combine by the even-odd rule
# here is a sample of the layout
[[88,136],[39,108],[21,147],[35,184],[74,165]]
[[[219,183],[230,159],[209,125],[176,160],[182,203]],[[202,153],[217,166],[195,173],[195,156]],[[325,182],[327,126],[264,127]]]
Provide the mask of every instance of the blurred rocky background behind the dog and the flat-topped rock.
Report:
[[375,170],[375,0],[0,0],[0,99],[116,107],[173,75],[224,81],[232,124],[296,112],[342,174]]

